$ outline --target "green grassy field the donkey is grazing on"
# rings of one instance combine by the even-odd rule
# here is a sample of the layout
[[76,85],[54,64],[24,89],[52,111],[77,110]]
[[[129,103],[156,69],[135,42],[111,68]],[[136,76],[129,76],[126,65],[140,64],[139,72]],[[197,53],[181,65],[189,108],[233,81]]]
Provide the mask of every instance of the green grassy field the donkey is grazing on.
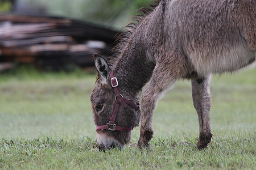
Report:
[[256,69],[214,76],[210,113],[214,137],[199,134],[191,84],[177,82],[155,110],[151,150],[139,151],[139,128],[123,150],[100,152],[90,111],[95,74],[0,74],[0,168],[22,169],[255,169]]

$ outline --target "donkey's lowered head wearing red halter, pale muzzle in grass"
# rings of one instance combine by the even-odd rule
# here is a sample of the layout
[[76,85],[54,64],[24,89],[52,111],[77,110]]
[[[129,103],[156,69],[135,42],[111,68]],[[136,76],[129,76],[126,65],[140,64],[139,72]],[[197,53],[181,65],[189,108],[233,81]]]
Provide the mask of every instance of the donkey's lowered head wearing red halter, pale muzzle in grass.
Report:
[[119,91],[118,78],[110,71],[108,62],[94,54],[98,81],[90,97],[96,124],[97,145],[101,150],[122,148],[131,139],[131,130],[141,118],[138,96]]

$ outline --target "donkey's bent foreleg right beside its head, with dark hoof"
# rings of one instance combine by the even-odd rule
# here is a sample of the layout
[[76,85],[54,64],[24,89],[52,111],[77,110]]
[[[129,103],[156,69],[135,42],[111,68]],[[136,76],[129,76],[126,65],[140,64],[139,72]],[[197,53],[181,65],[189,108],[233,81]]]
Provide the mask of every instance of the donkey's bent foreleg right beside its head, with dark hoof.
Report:
[[[141,119],[141,135],[138,141],[138,147],[147,147],[153,137],[152,130],[152,117],[156,106],[156,103],[163,96],[164,92],[174,86],[176,79],[170,74],[162,73],[159,71],[162,68],[156,67],[153,71],[152,78],[147,84],[145,90],[142,93],[141,109],[142,109],[142,119]],[[159,75],[159,73],[162,73]]]

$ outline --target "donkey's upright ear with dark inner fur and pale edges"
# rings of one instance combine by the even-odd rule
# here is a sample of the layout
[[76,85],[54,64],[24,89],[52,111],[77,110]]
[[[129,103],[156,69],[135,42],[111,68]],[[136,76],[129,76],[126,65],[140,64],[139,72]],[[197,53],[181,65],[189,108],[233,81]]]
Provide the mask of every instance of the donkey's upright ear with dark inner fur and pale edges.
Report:
[[108,62],[99,54],[93,54],[93,58],[101,83],[108,84],[108,78],[110,74]]

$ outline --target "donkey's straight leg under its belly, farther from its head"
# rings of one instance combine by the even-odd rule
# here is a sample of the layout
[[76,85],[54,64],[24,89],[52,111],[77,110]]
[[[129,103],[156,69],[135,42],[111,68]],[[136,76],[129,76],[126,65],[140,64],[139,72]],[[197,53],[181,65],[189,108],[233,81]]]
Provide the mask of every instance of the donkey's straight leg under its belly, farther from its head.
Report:
[[193,104],[196,109],[199,118],[200,134],[199,141],[197,142],[197,148],[201,150],[207,147],[208,143],[212,139],[212,130],[210,130],[210,78],[211,75],[204,78],[192,79],[192,97]]

